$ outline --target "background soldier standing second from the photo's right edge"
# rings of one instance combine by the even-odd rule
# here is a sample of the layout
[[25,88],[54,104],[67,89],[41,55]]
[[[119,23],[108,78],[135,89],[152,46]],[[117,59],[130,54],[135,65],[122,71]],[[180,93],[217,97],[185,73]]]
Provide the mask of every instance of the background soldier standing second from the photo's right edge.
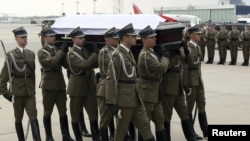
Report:
[[230,44],[230,54],[231,54],[231,62],[229,65],[236,65],[237,55],[238,55],[238,47],[241,42],[240,31],[237,29],[237,25],[232,25],[232,31],[229,32],[229,44]]

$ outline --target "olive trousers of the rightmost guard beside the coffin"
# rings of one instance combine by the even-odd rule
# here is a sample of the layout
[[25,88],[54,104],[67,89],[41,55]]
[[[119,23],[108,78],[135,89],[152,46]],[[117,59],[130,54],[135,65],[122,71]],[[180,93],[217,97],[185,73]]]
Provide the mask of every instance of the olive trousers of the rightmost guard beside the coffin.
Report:
[[192,92],[187,96],[188,113],[192,113],[196,103],[199,113],[205,112],[205,93],[203,85],[190,87]]

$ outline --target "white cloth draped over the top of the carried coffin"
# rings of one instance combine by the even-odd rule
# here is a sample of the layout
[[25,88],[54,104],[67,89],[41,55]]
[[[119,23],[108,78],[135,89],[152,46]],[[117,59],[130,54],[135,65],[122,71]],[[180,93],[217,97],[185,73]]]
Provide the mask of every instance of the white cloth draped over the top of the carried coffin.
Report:
[[86,35],[103,35],[111,27],[120,29],[132,23],[138,33],[147,25],[155,29],[159,23],[165,21],[156,14],[87,14],[58,18],[51,28],[57,34],[69,34],[74,28],[80,26]]

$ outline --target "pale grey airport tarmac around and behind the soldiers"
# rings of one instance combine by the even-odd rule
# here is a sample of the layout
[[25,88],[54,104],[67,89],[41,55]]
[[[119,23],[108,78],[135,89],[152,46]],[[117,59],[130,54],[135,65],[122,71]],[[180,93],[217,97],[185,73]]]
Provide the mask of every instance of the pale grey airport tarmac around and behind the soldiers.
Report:
[[[13,33],[13,29],[24,26],[28,31],[28,45],[27,48],[37,53],[41,48],[40,38],[38,33],[41,30],[37,25],[17,25],[17,24],[0,24],[0,40],[5,44],[6,50],[10,50],[16,47]],[[2,50],[2,47],[1,49]],[[227,63],[225,65],[217,65],[219,61],[218,50],[215,51],[214,64],[202,63],[202,76],[205,85],[206,95],[206,112],[208,123],[210,124],[250,124],[250,66],[241,66],[243,62],[242,51],[238,52],[238,60],[235,66],[228,65],[230,61],[229,50],[227,52]],[[205,55],[207,59],[207,54]],[[205,59],[205,61],[206,61]],[[2,68],[4,62],[4,53],[0,51],[0,68]],[[38,121],[40,125],[40,134],[42,140],[45,140],[45,131],[43,126],[43,106],[42,106],[42,93],[38,87],[40,82],[40,64],[36,58],[36,102],[38,110]],[[67,83],[67,79],[65,79]],[[69,98],[67,101],[69,109]],[[15,119],[13,107],[10,102],[0,97],[0,141],[17,141],[17,135],[15,132]],[[69,118],[69,129],[71,137],[74,138],[74,134],[71,127],[70,111],[67,111]],[[85,123],[88,131],[90,132],[89,119],[85,112]],[[24,113],[23,127],[24,133],[28,133],[27,141],[32,141],[32,133],[29,128],[28,132],[28,118]],[[154,125],[152,125],[152,132],[154,133]],[[199,135],[202,135],[200,130],[198,118],[196,118],[194,124],[195,130]],[[59,117],[56,107],[52,114],[52,131],[53,137],[56,141],[62,140],[60,131]],[[171,137],[172,141],[185,141],[185,137],[181,128],[180,118],[174,111],[171,122]],[[84,141],[92,141],[91,138],[83,137]]]

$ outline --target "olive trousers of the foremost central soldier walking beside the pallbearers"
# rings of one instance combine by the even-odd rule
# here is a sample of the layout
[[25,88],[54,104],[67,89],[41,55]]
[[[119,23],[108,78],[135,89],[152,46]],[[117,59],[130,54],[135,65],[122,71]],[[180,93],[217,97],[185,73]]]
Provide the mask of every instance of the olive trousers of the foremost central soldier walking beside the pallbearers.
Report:
[[145,107],[140,104],[136,107],[119,107],[121,117],[116,118],[115,141],[123,141],[128,132],[129,123],[132,121],[144,140],[153,138],[150,121]]

